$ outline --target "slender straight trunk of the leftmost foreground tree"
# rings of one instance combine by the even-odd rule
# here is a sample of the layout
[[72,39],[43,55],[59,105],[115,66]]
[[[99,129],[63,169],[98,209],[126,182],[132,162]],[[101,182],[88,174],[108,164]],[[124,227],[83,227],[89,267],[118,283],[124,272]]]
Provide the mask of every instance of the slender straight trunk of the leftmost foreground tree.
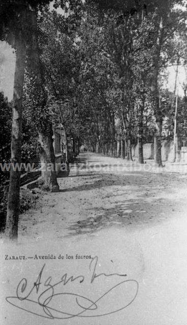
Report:
[[[16,67],[14,75],[14,94],[12,104],[12,140],[11,140],[11,163],[21,163],[21,119],[22,119],[22,95],[24,82],[24,69],[26,49],[24,40],[20,33],[16,41]],[[19,193],[20,193],[20,171],[14,170],[13,165],[10,171],[8,208],[5,236],[7,239],[16,239],[18,236],[19,216]]]

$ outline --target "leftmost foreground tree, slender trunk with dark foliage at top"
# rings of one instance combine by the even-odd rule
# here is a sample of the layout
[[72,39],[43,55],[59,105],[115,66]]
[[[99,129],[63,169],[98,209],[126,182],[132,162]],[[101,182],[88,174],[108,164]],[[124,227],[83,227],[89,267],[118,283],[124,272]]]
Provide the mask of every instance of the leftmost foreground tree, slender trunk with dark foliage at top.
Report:
[[21,160],[22,96],[26,59],[26,45],[30,38],[30,14],[33,8],[49,1],[3,0],[0,4],[0,39],[7,41],[16,50],[14,94],[12,103],[12,140],[6,237],[17,238],[19,215],[20,172],[13,167]]

